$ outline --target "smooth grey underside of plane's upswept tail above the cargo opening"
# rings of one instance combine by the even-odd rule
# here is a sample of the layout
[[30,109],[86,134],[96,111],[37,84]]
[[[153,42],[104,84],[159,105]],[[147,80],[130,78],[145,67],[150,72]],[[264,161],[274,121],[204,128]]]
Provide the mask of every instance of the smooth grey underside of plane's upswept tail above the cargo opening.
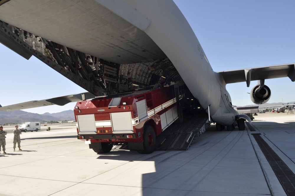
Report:
[[[124,1],[118,2],[124,9],[131,10],[131,14],[142,16]],[[127,18],[114,14],[98,1],[11,0],[0,6],[0,20],[114,63],[166,58],[155,42],[139,29],[146,28],[150,21],[142,16],[141,21],[134,22],[135,26],[127,22]]]

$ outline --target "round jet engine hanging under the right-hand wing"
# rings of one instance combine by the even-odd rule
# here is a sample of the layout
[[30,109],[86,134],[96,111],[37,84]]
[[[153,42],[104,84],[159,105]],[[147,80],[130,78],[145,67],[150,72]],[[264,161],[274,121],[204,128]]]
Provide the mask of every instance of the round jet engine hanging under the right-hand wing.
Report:
[[268,102],[269,98],[271,98],[271,89],[268,86],[263,85],[261,87],[260,84],[257,84],[253,87],[250,93],[251,101],[255,104],[263,104]]

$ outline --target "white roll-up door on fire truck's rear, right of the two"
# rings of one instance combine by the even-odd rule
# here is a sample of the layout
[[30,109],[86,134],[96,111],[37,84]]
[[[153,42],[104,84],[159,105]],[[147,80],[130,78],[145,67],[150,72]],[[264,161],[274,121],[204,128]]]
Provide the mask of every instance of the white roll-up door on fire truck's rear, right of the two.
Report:
[[113,133],[133,133],[131,112],[111,113]]

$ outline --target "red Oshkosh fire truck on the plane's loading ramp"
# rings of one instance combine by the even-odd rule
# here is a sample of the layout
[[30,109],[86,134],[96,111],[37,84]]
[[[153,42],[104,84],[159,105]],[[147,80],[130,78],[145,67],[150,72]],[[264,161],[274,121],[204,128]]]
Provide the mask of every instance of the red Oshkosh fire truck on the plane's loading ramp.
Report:
[[157,89],[77,102],[77,137],[96,153],[107,153],[119,143],[139,153],[152,153],[156,136],[174,121],[182,122],[183,97],[183,84],[172,82]]

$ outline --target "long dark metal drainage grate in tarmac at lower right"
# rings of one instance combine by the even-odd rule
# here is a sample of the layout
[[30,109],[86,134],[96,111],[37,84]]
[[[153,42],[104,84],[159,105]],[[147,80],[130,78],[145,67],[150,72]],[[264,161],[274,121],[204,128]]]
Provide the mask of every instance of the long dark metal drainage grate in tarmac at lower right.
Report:
[[253,135],[268,163],[271,165],[287,196],[295,196],[295,174],[263,140],[260,133],[252,133],[251,135]]

